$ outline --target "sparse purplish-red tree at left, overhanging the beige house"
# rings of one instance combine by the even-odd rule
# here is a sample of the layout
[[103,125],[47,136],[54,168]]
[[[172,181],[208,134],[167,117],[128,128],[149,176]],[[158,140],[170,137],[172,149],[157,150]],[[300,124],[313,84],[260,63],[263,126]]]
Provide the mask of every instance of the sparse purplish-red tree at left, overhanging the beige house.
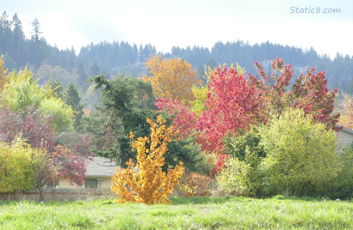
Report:
[[[43,188],[52,180],[53,168],[57,169],[55,177],[64,177],[79,186],[83,183],[88,159],[92,157],[89,135],[76,132],[59,135],[53,129],[52,116],[33,107],[24,109],[22,113],[1,108],[0,119],[0,141],[11,145],[21,136],[26,145],[38,149],[33,156],[35,162],[30,165],[38,172],[35,178],[37,188]],[[48,167],[41,168],[41,165]]]

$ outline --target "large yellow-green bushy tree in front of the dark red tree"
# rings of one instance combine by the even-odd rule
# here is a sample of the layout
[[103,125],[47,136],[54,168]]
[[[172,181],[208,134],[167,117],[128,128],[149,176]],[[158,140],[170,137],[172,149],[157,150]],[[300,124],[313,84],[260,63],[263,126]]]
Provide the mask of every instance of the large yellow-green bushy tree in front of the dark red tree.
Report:
[[260,129],[267,157],[261,163],[269,194],[325,195],[342,171],[336,133],[303,110],[287,109]]

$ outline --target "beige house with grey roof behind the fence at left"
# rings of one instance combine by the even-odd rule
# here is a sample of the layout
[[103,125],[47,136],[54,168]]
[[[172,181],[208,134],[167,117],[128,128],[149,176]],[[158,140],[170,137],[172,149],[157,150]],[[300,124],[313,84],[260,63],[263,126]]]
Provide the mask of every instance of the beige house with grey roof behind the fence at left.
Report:
[[112,185],[112,176],[116,171],[115,162],[102,157],[93,157],[87,165],[85,181],[82,186],[74,184],[65,178],[60,178],[54,182],[54,188],[110,188]]

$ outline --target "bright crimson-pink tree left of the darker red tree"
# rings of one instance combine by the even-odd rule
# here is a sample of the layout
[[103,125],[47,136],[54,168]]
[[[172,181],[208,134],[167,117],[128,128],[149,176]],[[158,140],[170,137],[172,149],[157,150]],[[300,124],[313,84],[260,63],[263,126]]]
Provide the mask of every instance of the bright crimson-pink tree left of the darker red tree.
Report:
[[[207,139],[208,151],[222,152],[223,137],[248,131],[262,119],[262,92],[234,68],[217,67],[210,75],[207,110],[198,120],[198,128]],[[213,93],[213,95],[211,95]],[[222,155],[222,154],[221,154]]]

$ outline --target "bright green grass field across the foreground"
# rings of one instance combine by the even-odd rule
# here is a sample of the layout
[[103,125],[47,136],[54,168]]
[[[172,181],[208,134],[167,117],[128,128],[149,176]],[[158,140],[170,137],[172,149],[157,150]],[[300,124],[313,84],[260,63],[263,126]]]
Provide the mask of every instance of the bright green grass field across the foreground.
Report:
[[352,201],[277,198],[0,202],[0,229],[353,229]]

